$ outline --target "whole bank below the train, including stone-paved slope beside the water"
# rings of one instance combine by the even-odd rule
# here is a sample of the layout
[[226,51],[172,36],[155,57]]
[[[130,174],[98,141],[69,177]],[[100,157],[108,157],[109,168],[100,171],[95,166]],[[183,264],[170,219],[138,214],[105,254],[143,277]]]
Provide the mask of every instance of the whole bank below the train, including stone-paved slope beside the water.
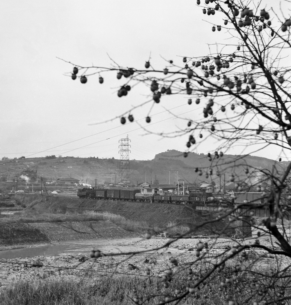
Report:
[[[235,229],[229,227],[228,221],[211,222],[217,216],[215,212],[197,211],[193,206],[184,204],[57,196],[24,196],[23,200],[26,206],[23,211],[6,215],[6,218],[2,215],[4,218],[0,219],[0,249],[78,240],[132,238],[137,236],[132,231],[144,234],[148,229],[156,235],[168,231],[169,224],[183,227],[185,232],[189,228],[193,230],[191,235],[236,234]],[[107,212],[121,216],[129,223],[119,224],[111,218],[102,217],[88,219],[86,211],[95,211],[102,216]],[[56,215],[59,218],[53,219]],[[181,234],[181,231],[177,234]]]

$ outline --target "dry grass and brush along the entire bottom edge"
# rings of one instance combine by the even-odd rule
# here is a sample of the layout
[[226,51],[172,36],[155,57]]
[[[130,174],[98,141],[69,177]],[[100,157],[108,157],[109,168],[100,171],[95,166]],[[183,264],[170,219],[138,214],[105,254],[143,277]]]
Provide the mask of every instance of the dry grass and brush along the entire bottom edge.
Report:
[[[232,262],[236,264],[236,262]],[[187,266],[188,265],[188,266]],[[247,264],[250,269],[251,262]],[[86,272],[82,275],[67,275],[62,278],[51,277],[47,279],[34,279],[30,281],[20,281],[11,284],[7,289],[0,289],[1,305],[119,305],[134,304],[134,297],[139,296],[145,304],[158,304],[165,301],[165,297],[174,298],[175,290],[181,289],[182,293],[188,291],[187,287],[196,281],[188,280],[188,264],[174,270],[172,281],[168,282],[169,287],[164,287],[160,278],[144,278],[141,276],[108,275],[94,278],[95,274]],[[242,266],[243,267],[243,266]],[[246,266],[245,266],[246,267]],[[203,276],[204,272],[199,267],[192,265],[193,274]],[[281,279],[260,278],[252,274],[240,272],[229,274],[231,264],[222,273],[222,278],[228,276],[231,282],[222,289],[221,279],[217,276],[208,279],[206,285],[200,285],[200,289],[195,289],[181,300],[179,304],[198,304],[198,305],[225,305],[229,300],[235,300],[236,304],[253,304],[254,301],[278,303],[280,297],[276,296],[280,287],[288,287],[290,281]],[[260,269],[260,271],[263,271]],[[264,273],[268,274],[267,270]],[[227,275],[228,274],[228,275]],[[162,275],[162,274],[161,274]],[[237,283],[236,283],[237,282]],[[256,285],[254,285],[256,283]],[[146,284],[146,285],[145,285]],[[264,296],[258,294],[259,289],[272,286]],[[137,287],[137,292],[133,288]],[[157,286],[159,289],[157,290]],[[274,288],[276,293],[274,293]],[[288,291],[287,291],[288,290]],[[286,289],[286,296],[290,295]],[[173,303],[174,304],[174,303]],[[287,300],[287,303],[288,300]]]

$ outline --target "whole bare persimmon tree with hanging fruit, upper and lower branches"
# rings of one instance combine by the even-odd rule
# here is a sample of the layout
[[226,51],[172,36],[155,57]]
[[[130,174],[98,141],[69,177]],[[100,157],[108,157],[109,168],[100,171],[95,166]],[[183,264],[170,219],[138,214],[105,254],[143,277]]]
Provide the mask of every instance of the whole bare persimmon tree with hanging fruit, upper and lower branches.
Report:
[[[81,83],[85,84],[88,79],[98,74],[99,83],[102,84],[106,81],[106,73],[114,72],[121,82],[117,91],[119,98],[126,99],[131,90],[136,90],[134,84],[138,82],[148,87],[149,99],[146,102],[152,103],[152,106],[162,104],[169,95],[176,95],[177,101],[181,100],[180,96],[187,96],[189,107],[204,105],[203,109],[197,109],[197,113],[200,112],[199,118],[197,115],[195,119],[183,118],[185,128],[175,133],[175,136],[187,136],[187,151],[184,156],[205,141],[208,138],[206,135],[219,143],[214,147],[213,153],[208,154],[211,164],[223,156],[219,151],[224,149],[225,152],[233,145],[259,145],[261,149],[265,146],[279,147],[284,154],[291,149],[291,68],[288,60],[291,49],[291,20],[290,16],[284,16],[288,10],[283,11],[279,6],[278,13],[262,3],[244,0],[197,0],[196,9],[201,12],[201,16],[207,18],[205,22],[209,24],[209,31],[215,32],[214,34],[219,32],[219,35],[223,34],[227,39],[227,44],[209,45],[210,52],[205,56],[181,54],[175,61],[165,60],[165,66],[159,70],[151,66],[151,58],[145,61],[142,68],[122,67],[114,61],[111,67],[85,67],[68,62],[73,66],[73,73],[68,76],[73,80],[79,78]],[[280,2],[281,4],[289,5],[290,2],[285,0]],[[211,23],[214,15],[221,17],[219,24]],[[127,119],[133,122],[133,112],[137,109],[138,107],[134,107],[121,114],[121,124],[125,124]],[[148,114],[146,122],[151,121],[152,118]],[[172,132],[164,136],[172,136]],[[196,293],[198,287],[208,287],[208,290],[205,290],[209,293],[212,290],[210,282],[218,278],[221,279],[219,291],[223,296],[229,296],[229,305],[236,303],[236,300],[230,298],[231,293],[234,293],[230,284],[232,287],[239,287],[237,291],[249,291],[249,298],[244,300],[245,302],[252,300],[253,304],[286,303],[290,297],[285,294],[284,285],[290,286],[291,283],[288,269],[290,264],[284,270],[270,270],[270,275],[254,271],[251,265],[243,265],[241,261],[248,257],[245,251],[253,248],[262,249],[276,257],[291,257],[289,238],[284,230],[282,233],[277,228],[278,219],[282,221],[284,228],[284,220],[290,216],[288,205],[280,205],[280,194],[288,190],[286,179],[290,169],[291,162],[282,170],[261,170],[264,178],[272,181],[270,194],[262,194],[266,200],[261,206],[268,208],[270,217],[264,220],[262,227],[256,225],[253,217],[248,221],[249,225],[259,231],[258,237],[270,235],[271,246],[261,245],[257,240],[245,241],[246,244],[238,243],[228,256],[217,256],[219,263],[200,270],[200,275],[196,275],[196,282],[191,282],[193,277],[189,276],[187,285],[176,287],[176,293],[169,293],[162,303],[177,301],[188,294]],[[202,170],[198,167],[195,172],[202,175]],[[212,173],[211,168],[206,173],[207,177]],[[245,174],[251,174],[248,167],[245,168]],[[236,181],[234,174],[231,175],[230,181]],[[237,186],[240,187],[239,184]],[[251,209],[250,206],[251,204]],[[233,206],[230,210],[219,212],[215,221],[225,217],[238,219],[241,216],[239,208],[240,206]],[[229,223],[231,222],[229,220]],[[192,265],[202,260],[205,249],[203,243],[198,243]],[[244,270],[237,266],[225,267],[225,263],[233,257],[240,261]],[[172,261],[177,262],[174,258]],[[259,281],[261,286],[249,285],[242,272],[247,272],[254,284]],[[172,285],[169,275],[171,274],[165,275],[163,280],[165,289]],[[158,292],[160,290],[157,289]],[[134,293],[137,293],[136,289]],[[137,295],[133,300],[140,302]]]

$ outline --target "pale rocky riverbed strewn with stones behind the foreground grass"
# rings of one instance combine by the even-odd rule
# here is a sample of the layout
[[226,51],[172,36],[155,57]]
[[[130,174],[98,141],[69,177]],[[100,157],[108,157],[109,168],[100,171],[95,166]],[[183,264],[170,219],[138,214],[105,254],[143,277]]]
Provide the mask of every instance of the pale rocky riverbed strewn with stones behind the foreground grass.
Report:
[[[96,248],[101,251],[101,257],[91,258],[90,250],[85,249],[76,254],[73,251],[62,256],[38,256],[33,258],[17,258],[5,260],[0,263],[0,286],[5,289],[9,283],[18,280],[44,279],[48,277],[82,277],[90,274],[93,278],[112,276],[112,274],[146,275],[151,270],[151,276],[160,277],[169,266],[169,259],[175,257],[179,264],[193,261],[197,239],[180,239],[168,247],[161,248],[169,239],[119,239],[106,242],[106,245]],[[237,242],[231,239],[201,239],[208,242],[208,249],[204,255],[208,263],[215,262],[215,257],[228,252]],[[241,241],[240,241],[241,242]],[[270,240],[261,238],[261,244],[270,246]],[[86,244],[86,242],[83,242]],[[159,249],[161,248],[161,249]],[[135,251],[135,255],[126,253]],[[138,253],[142,251],[141,253]],[[275,262],[274,256],[262,250],[250,250],[250,260],[256,260],[260,267],[270,266]],[[287,261],[286,261],[287,263]]]

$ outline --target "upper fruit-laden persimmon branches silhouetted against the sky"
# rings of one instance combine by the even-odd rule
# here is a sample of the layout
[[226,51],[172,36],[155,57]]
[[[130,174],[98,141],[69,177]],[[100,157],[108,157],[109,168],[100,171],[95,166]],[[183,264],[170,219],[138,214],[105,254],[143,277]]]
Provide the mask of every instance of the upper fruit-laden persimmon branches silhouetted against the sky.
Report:
[[[124,68],[115,63],[110,68],[74,65],[71,77],[80,78],[85,84],[89,77],[98,74],[102,84],[106,78],[101,73],[116,71],[117,79],[125,80],[117,91],[120,98],[129,94],[131,82],[138,81],[149,87],[153,103],[162,102],[166,95],[183,94],[190,96],[189,105],[193,98],[196,104],[204,102],[201,119],[189,120],[189,128],[177,131],[178,134],[188,133],[197,138],[201,131],[207,131],[222,140],[221,147],[243,140],[290,149],[290,67],[286,66],[288,61],[283,56],[290,48],[291,20],[280,21],[272,9],[246,7],[248,4],[246,1],[205,1],[202,5],[197,1],[197,10],[202,9],[202,14],[209,16],[209,22],[212,15],[222,15],[224,25],[214,25],[212,30],[223,29],[231,43],[210,45],[211,52],[212,48],[219,47],[219,53],[198,58],[181,56],[181,62],[169,60],[160,70],[152,68],[150,60],[145,62],[145,69]],[[80,72],[83,73],[78,76]],[[128,111],[128,119],[132,122],[131,112],[132,109]],[[255,123],[253,116],[261,123]],[[146,122],[151,122],[150,116]],[[124,114],[121,123],[126,123]],[[278,134],[283,137],[278,139]]]

